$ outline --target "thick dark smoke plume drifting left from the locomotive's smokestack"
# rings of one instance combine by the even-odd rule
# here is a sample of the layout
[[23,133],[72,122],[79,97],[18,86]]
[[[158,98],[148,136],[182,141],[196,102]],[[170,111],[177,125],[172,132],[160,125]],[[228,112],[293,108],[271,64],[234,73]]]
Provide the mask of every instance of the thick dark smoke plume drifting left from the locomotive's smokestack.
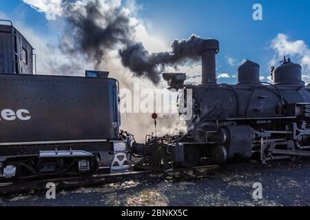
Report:
[[142,43],[134,40],[132,17],[121,6],[106,11],[101,10],[99,0],[90,0],[79,7],[75,3],[62,2],[67,32],[62,36],[61,49],[72,56],[77,52],[85,54],[97,68],[111,50],[118,50],[122,64],[135,76],[145,76],[158,84],[165,67],[183,63],[188,58],[198,59],[204,39],[194,34],[187,40],[174,40],[171,52],[149,54]]

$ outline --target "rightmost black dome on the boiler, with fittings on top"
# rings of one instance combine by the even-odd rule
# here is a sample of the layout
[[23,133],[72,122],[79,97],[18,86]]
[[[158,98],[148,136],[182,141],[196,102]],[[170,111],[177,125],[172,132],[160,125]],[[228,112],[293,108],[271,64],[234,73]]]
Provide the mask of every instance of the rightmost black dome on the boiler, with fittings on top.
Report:
[[282,61],[279,67],[272,72],[273,83],[276,85],[298,85],[303,86],[302,67],[298,63],[291,62],[291,59]]

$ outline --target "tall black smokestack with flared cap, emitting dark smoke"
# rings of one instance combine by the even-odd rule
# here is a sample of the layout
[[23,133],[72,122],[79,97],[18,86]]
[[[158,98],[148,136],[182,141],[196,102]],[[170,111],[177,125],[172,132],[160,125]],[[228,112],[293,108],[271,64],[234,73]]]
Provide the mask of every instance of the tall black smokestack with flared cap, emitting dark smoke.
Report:
[[201,61],[203,65],[202,84],[216,84],[216,54],[220,51],[220,43],[215,39],[203,42]]

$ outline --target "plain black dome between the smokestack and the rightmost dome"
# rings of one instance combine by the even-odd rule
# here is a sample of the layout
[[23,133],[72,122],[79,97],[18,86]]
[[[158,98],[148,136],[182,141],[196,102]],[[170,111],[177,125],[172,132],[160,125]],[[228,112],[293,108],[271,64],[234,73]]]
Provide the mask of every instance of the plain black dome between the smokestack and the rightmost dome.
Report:
[[260,65],[247,60],[238,68],[238,85],[260,84]]

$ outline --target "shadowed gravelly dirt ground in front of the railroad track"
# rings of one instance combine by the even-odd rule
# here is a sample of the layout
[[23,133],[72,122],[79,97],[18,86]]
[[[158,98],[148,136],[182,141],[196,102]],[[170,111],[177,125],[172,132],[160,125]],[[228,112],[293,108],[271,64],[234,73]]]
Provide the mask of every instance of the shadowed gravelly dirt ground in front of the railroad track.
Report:
[[[200,173],[1,197],[0,206],[310,206],[310,161],[238,164]],[[253,199],[253,184],[262,199]]]

